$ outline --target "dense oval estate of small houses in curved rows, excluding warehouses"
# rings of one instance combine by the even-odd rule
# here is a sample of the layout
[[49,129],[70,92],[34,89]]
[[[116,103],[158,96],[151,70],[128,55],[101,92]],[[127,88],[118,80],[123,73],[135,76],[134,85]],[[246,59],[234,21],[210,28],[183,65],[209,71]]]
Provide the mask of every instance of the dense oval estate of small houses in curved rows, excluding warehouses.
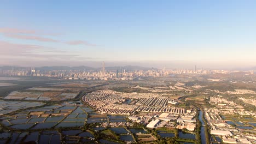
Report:
[[[170,104],[176,100],[152,93],[120,93],[110,90],[91,92],[83,97],[83,101],[97,111],[109,114],[130,115],[135,112],[167,112],[185,114],[187,110]],[[124,103],[120,104],[120,101]]]

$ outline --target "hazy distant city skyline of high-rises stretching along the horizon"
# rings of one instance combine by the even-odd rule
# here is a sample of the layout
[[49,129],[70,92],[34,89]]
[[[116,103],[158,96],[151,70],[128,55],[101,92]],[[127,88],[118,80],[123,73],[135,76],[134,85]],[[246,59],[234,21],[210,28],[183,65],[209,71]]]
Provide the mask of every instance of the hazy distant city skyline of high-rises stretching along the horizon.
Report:
[[174,75],[211,75],[240,73],[253,75],[253,71],[217,70],[217,69],[173,69],[167,70],[144,67],[0,67],[0,75],[5,76],[33,76],[33,77],[56,77],[66,80],[137,80],[146,77],[170,77]]

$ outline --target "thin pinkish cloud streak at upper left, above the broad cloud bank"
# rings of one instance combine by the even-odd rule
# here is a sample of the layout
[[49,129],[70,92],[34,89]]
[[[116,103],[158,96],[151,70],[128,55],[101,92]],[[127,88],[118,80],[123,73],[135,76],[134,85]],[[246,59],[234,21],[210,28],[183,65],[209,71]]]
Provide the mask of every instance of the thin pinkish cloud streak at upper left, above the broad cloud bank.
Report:
[[22,35],[22,34],[4,34],[5,37],[9,38],[15,38],[15,39],[26,39],[26,40],[37,40],[37,41],[43,41],[43,42],[53,42],[57,43],[58,40],[50,39],[50,38],[44,38],[44,37],[38,37],[34,35]]

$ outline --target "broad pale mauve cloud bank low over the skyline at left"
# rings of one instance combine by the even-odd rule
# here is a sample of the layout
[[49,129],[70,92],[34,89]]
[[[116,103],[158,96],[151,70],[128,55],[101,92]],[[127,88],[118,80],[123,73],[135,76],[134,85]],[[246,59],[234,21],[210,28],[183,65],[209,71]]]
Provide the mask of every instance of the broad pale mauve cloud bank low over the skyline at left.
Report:
[[[31,61],[79,61],[80,59],[93,59],[84,57],[78,52],[59,51],[52,47],[29,44],[14,44],[0,40],[0,60],[9,59],[18,62],[20,59]],[[8,60],[8,61],[9,61]],[[5,62],[8,62],[5,61]]]

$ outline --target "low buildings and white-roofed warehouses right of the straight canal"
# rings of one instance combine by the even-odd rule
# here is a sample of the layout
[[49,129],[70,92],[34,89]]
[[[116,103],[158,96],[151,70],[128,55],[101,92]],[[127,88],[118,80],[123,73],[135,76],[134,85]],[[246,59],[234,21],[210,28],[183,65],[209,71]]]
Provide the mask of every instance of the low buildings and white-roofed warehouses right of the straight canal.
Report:
[[[240,91],[237,92],[247,92]],[[245,98],[240,98],[246,100]],[[240,117],[256,117],[256,113],[253,111],[247,111],[243,106],[237,105],[234,101],[230,101],[221,95],[216,95],[210,98],[210,104],[216,108],[205,109],[205,119],[207,124],[211,127],[211,134],[222,138],[224,143],[254,143],[256,140],[255,136],[246,134],[245,131],[253,131],[251,129],[244,129],[248,123],[243,123]],[[231,116],[226,119],[225,116]],[[233,118],[232,116],[237,116]],[[238,122],[240,121],[240,122]]]

